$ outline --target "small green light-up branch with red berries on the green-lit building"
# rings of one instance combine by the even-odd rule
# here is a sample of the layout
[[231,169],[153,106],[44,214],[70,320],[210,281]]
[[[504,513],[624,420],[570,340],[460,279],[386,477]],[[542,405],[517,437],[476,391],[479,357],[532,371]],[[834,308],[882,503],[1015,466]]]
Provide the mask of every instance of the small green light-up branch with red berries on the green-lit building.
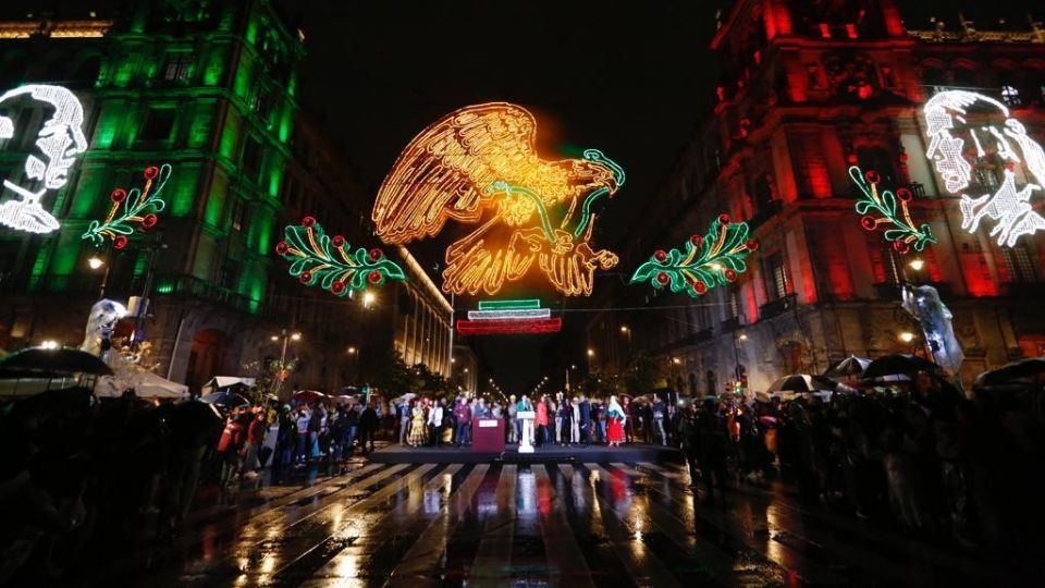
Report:
[[[160,194],[171,176],[171,166],[168,163],[160,167],[149,166],[142,175],[145,177],[145,187],[134,188],[131,192],[123,188],[112,191],[109,195],[112,200],[109,216],[102,222],[90,221],[87,232],[81,238],[90,240],[96,247],[101,246],[107,238],[111,238],[112,246],[122,249],[127,246],[127,235],[133,234],[137,226],[142,229],[156,226],[159,220],[157,213],[162,212],[167,207]],[[116,216],[121,207],[123,213]]]

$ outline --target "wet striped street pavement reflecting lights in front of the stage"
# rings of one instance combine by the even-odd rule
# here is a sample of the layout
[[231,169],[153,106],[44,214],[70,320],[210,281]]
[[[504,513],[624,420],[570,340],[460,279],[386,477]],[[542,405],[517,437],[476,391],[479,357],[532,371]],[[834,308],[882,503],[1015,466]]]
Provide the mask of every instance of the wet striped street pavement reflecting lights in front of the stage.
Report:
[[410,588],[1017,580],[1010,566],[804,505],[783,486],[740,485],[723,507],[688,483],[680,466],[652,462],[357,460],[342,475],[214,501],[172,543],[115,552],[79,580]]

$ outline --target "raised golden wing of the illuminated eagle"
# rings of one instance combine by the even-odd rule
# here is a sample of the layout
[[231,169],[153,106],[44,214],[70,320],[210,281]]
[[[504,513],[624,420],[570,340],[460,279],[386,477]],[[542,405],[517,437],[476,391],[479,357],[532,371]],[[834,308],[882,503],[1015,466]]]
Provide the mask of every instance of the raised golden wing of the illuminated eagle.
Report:
[[[438,233],[446,219],[478,222],[494,203],[487,188],[539,167],[537,123],[514,105],[492,102],[454,111],[403,150],[373,206],[378,235],[407,243]],[[530,166],[525,166],[530,163]]]

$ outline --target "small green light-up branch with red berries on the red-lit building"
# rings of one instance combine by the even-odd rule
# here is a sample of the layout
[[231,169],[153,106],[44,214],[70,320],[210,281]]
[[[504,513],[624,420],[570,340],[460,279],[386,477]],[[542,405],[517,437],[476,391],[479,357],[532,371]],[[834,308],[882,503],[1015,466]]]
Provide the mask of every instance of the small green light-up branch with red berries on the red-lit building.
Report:
[[[914,228],[914,220],[908,210],[908,203],[913,197],[910,189],[898,188],[895,195],[888,189],[878,192],[878,182],[882,181],[878,172],[871,170],[863,173],[856,166],[849,168],[849,177],[852,177],[863,193],[856,204],[857,212],[863,215],[860,226],[874,231],[880,225],[892,225],[892,229],[885,230],[885,238],[890,241],[893,249],[900,254],[911,250],[912,246],[920,252],[925,248],[926,243],[936,243],[936,237],[927,224]],[[899,210],[897,200],[900,203]]]

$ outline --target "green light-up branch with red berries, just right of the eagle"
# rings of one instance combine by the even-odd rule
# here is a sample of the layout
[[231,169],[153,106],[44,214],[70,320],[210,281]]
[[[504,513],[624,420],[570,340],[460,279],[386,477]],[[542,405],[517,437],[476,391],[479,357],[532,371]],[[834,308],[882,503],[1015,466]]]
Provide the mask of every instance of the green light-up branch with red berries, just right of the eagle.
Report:
[[657,290],[671,286],[676,294],[686,292],[697,297],[716,285],[735,282],[748,269],[745,259],[759,248],[757,241],[748,238],[748,223],[730,222],[728,215],[720,215],[705,236],[689,237],[685,252],[654,253],[635,270],[631,283],[648,281]]

